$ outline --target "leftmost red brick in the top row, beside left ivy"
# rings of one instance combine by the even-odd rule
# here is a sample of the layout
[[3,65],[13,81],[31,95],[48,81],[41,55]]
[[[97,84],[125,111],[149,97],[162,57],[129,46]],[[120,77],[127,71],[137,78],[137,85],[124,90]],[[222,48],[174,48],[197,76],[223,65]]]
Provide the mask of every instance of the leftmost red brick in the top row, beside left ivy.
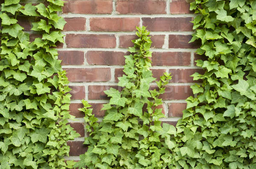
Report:
[[73,14],[111,14],[112,0],[68,0],[63,13]]

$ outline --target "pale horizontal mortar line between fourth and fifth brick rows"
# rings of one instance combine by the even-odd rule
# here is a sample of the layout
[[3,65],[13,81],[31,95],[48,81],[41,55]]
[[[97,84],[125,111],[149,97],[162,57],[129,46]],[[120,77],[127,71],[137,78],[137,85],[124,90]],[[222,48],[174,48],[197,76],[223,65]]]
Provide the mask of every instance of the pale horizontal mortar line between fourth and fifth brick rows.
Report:
[[[123,68],[120,65],[62,65],[62,68]],[[198,66],[152,66],[151,69],[203,69]]]

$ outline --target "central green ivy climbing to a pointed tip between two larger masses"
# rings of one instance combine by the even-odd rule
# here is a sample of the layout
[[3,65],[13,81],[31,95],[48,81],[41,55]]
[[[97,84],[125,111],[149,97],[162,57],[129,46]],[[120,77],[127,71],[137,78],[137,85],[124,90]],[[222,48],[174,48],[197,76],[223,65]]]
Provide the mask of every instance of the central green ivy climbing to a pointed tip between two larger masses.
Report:
[[[89,169],[163,169],[169,165],[169,148],[175,146],[170,138],[176,134],[175,127],[163,124],[164,117],[158,97],[164,93],[171,76],[164,73],[157,83],[158,89],[149,90],[155,80],[151,70],[151,39],[145,27],[137,28],[138,39],[133,40],[133,54],[125,56],[124,73],[118,86],[122,91],[111,88],[105,93],[111,98],[102,110],[107,110],[101,123],[92,115],[86,101],[84,120],[89,136],[84,144],[88,150],[80,155],[75,167]],[[143,107],[145,109],[143,109]],[[141,121],[142,120],[142,121]]]

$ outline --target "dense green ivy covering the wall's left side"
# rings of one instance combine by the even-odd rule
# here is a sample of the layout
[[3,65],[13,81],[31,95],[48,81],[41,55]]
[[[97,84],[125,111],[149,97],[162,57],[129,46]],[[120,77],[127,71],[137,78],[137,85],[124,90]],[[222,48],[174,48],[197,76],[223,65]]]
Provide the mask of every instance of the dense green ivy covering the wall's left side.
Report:
[[[78,137],[67,119],[71,95],[58,60],[56,42],[64,42],[64,19],[57,15],[62,0],[36,6],[5,0],[0,18],[0,168],[72,168],[67,141]],[[46,4],[46,3],[45,3]],[[18,17],[33,21],[29,41]]]

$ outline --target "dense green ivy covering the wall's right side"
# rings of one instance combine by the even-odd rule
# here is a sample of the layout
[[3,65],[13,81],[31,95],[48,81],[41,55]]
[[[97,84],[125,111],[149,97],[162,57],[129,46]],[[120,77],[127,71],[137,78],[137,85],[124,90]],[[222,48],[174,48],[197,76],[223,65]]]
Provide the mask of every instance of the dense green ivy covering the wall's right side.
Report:
[[256,1],[195,0],[192,42],[201,40],[196,97],[177,123],[171,169],[256,168]]

